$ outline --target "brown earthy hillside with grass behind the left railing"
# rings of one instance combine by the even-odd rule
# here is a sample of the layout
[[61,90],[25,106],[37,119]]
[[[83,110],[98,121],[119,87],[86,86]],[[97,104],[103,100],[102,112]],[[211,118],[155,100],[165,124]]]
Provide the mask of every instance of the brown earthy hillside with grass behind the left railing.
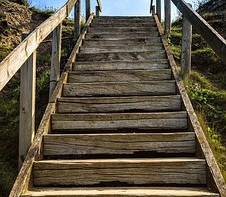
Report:
[[[20,0],[0,1],[0,61],[21,41],[23,32],[31,32],[53,12],[29,8]],[[63,22],[62,65],[73,47],[73,23]],[[36,127],[48,103],[51,36],[37,53]],[[0,196],[8,196],[17,176],[19,126],[19,72],[0,92]]]

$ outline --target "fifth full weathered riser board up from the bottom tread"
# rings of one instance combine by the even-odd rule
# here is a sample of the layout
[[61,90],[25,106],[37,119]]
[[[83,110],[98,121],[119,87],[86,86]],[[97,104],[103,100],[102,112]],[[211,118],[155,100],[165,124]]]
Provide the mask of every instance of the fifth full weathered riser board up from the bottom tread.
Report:
[[154,96],[176,93],[175,81],[68,83],[63,96]]

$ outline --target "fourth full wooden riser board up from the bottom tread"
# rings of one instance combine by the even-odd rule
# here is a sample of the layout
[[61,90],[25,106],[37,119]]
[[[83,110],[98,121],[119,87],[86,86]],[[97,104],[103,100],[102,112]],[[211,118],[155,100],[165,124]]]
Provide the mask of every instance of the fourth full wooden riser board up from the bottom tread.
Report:
[[179,111],[182,100],[179,95],[130,96],[130,97],[61,97],[57,113],[110,113],[110,112],[158,112]]

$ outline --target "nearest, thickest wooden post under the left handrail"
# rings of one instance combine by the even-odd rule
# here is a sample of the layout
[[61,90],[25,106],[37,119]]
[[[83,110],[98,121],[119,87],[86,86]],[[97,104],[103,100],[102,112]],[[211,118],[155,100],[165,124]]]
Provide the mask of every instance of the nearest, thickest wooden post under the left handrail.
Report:
[[[23,34],[24,40],[28,34]],[[19,170],[35,135],[36,51],[21,67]]]

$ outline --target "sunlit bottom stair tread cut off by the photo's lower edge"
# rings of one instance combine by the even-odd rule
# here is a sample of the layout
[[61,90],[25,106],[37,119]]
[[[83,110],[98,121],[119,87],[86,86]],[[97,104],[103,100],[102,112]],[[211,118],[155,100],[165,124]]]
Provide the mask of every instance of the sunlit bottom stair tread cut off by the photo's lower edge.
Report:
[[220,197],[200,187],[37,188],[22,197]]

